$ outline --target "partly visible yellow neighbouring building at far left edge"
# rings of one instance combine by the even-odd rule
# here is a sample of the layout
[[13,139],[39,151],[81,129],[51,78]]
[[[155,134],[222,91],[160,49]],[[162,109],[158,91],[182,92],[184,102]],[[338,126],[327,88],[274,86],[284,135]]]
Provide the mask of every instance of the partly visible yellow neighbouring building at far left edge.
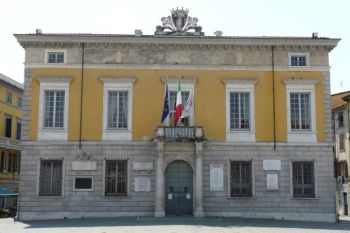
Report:
[[17,189],[21,159],[23,85],[0,74],[0,187]]

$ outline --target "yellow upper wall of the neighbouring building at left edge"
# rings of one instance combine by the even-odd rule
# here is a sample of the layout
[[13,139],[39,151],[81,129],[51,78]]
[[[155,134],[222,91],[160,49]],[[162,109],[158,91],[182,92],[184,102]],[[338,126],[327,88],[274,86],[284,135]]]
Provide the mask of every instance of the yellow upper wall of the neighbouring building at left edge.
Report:
[[[7,92],[12,93],[12,104],[6,102]],[[5,118],[12,117],[11,138],[16,138],[16,121],[22,119],[22,109],[17,107],[18,97],[22,98],[22,91],[0,82],[0,136],[5,136]]]

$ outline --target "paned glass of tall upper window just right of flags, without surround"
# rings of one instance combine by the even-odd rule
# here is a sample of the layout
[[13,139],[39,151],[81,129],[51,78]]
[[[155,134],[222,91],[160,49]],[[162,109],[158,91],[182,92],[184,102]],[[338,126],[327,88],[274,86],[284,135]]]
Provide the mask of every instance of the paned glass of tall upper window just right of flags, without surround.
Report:
[[230,92],[230,129],[250,129],[249,99],[249,92]]

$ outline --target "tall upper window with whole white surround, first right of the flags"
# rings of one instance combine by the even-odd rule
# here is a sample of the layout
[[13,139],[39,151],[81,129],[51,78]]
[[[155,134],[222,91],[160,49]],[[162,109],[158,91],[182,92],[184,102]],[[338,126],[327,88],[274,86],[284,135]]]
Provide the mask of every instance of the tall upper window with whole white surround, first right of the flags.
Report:
[[226,141],[255,142],[254,78],[224,78]]

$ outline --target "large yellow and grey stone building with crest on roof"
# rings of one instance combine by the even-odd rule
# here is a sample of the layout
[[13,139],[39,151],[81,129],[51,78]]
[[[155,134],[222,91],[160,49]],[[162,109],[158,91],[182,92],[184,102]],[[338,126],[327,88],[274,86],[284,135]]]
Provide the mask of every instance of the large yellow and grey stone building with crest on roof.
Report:
[[[339,39],[16,34],[25,49],[19,219],[335,221],[328,55]],[[193,102],[174,127],[178,81]],[[160,125],[165,83],[170,115]]]

